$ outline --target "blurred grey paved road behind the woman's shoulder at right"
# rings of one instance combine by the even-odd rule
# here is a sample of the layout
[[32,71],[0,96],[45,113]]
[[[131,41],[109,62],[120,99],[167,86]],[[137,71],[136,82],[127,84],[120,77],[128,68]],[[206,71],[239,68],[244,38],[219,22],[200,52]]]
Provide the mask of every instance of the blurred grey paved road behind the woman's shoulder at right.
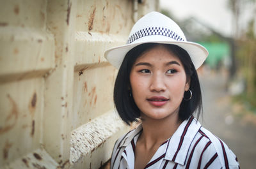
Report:
[[[237,115],[220,75],[200,76],[204,114],[201,124],[227,143],[236,154],[241,168],[256,168],[256,124]],[[232,111],[233,110],[233,111]],[[243,112],[242,112],[243,113]],[[256,117],[255,117],[256,118]]]

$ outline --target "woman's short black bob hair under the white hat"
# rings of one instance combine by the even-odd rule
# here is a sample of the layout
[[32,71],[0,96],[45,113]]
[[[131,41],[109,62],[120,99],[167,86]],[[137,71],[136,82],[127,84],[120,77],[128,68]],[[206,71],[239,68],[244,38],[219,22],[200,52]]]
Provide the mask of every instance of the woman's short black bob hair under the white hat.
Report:
[[[184,121],[186,119],[189,119],[189,117],[194,112],[198,112],[198,119],[200,113],[202,112],[202,95],[200,83],[198,80],[198,75],[196,73],[195,66],[191,61],[188,52],[186,52],[186,50],[177,45],[144,43],[132,48],[129,52],[127,52],[127,54],[124,57],[124,61],[120,66],[115,81],[115,107],[121,119],[128,125],[130,125],[131,122],[138,121],[138,118],[140,118],[140,109],[137,107],[133,97],[131,96],[130,73],[132,66],[136,59],[140,57],[141,54],[143,54],[150,48],[156,47],[157,45],[163,45],[163,47],[173,52],[173,54],[177,55],[177,57],[179,57],[180,61],[184,66],[187,80],[190,77],[189,89],[192,91],[193,96],[188,101],[182,99],[182,102],[180,103],[179,120]],[[188,97],[185,96],[185,98]]]

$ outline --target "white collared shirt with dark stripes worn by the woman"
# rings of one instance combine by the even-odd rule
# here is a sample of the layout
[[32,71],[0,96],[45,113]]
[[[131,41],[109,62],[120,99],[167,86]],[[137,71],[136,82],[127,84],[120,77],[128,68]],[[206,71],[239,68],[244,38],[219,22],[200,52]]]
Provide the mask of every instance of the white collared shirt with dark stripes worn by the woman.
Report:
[[[141,131],[140,125],[116,141],[111,169],[134,169],[135,146]],[[171,138],[163,142],[145,168],[240,167],[227,145],[191,117],[180,124]]]

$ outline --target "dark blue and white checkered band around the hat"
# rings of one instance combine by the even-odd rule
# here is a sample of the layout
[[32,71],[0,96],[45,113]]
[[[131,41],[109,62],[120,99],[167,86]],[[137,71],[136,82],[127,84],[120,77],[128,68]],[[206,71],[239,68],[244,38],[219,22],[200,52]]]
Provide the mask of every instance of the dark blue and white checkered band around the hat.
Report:
[[170,29],[166,29],[164,27],[147,27],[132,34],[127,40],[127,44],[130,44],[132,43],[132,41],[136,41],[144,36],[150,35],[162,35],[172,38],[173,40],[184,41],[182,38],[180,38],[180,36],[177,33],[170,31]]

